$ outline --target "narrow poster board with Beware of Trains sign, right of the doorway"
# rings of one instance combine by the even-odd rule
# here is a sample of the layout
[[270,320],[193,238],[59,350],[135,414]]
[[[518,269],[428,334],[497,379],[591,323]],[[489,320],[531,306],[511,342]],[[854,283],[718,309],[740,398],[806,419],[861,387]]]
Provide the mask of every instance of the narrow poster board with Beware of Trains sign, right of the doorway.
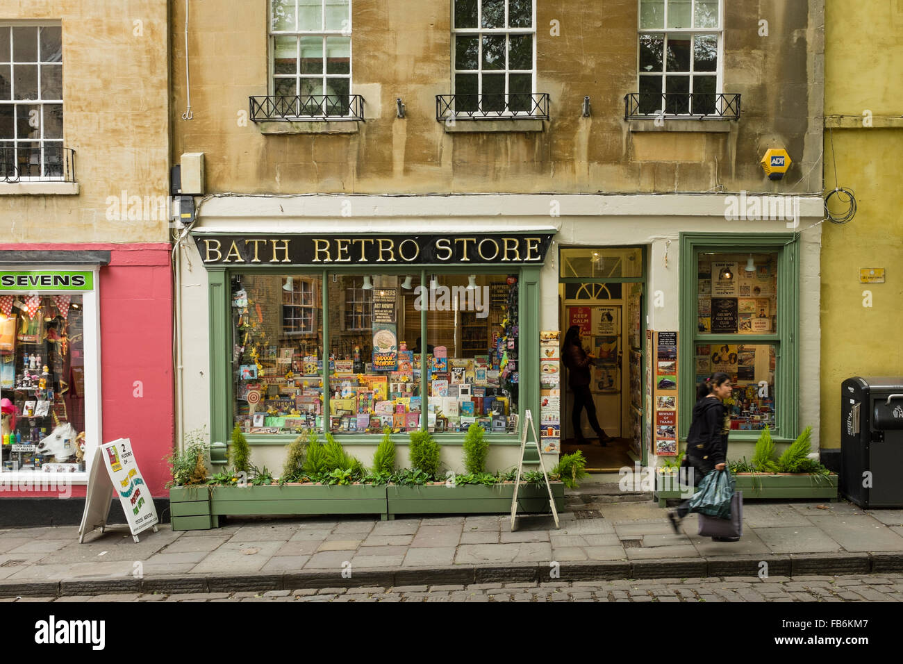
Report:
[[677,332],[655,332],[655,349],[650,364],[653,379],[653,452],[658,456],[677,455]]

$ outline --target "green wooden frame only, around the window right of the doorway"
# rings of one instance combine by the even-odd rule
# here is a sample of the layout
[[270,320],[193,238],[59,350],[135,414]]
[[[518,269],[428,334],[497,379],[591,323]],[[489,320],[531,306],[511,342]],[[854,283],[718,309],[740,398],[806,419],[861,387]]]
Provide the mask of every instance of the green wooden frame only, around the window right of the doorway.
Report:
[[[777,442],[796,438],[799,393],[799,235],[797,233],[681,233],[680,341],[678,353],[679,437],[685,442],[696,401],[696,343],[768,343],[777,353],[775,430]],[[701,253],[777,254],[777,332],[768,334],[700,334],[697,327],[697,260]],[[755,442],[759,431],[731,431],[731,440]]]

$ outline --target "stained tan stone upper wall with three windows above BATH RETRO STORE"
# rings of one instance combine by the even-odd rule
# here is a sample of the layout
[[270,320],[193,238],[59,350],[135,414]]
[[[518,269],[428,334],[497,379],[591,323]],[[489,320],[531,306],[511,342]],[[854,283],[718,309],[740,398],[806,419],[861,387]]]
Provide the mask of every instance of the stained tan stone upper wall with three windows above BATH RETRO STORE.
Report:
[[[551,95],[552,120],[535,134],[446,134],[436,121],[435,96],[452,91],[451,0],[352,0],[351,85],[367,121],[347,135],[262,135],[243,118],[248,98],[267,93],[267,5],[191,4],[194,118],[182,120],[185,10],[172,4],[172,158],[206,153],[208,192],[787,192],[801,178],[794,191],[821,188],[822,89],[809,81],[821,73],[822,0],[726,3],[724,91],[742,95],[743,116],[727,133],[654,135],[624,120],[624,96],[638,91],[636,0],[537,3],[536,91]],[[775,183],[759,159],[777,145],[794,164]]]

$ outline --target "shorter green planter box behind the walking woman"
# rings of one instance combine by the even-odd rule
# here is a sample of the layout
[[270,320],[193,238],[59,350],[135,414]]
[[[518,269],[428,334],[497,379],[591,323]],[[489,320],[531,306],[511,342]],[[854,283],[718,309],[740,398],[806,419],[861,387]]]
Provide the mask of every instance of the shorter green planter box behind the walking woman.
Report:
[[[737,491],[743,500],[755,499],[813,499],[837,500],[837,475],[734,475]],[[656,474],[656,500],[665,507],[669,498],[683,498],[684,490],[675,475]]]

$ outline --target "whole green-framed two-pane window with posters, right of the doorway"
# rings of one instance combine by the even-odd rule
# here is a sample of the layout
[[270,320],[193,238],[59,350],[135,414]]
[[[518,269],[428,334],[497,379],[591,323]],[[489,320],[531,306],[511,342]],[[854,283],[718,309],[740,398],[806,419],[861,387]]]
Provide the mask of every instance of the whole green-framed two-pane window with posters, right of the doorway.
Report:
[[780,233],[749,237],[748,246],[737,239],[681,235],[678,366],[694,365],[681,372],[681,434],[689,428],[695,386],[722,372],[734,387],[732,429],[768,426],[778,438],[795,437],[798,248],[792,235]]

